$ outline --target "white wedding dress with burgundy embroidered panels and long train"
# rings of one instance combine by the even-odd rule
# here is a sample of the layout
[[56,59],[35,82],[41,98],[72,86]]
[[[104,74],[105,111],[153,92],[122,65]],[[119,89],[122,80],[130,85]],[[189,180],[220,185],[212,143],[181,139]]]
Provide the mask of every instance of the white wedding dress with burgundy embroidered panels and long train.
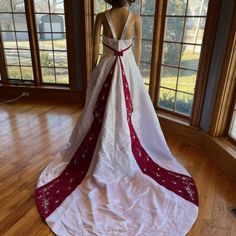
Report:
[[103,36],[86,104],[67,146],[39,177],[41,217],[60,236],[183,236],[198,215],[189,173],[171,154],[132,39]]

